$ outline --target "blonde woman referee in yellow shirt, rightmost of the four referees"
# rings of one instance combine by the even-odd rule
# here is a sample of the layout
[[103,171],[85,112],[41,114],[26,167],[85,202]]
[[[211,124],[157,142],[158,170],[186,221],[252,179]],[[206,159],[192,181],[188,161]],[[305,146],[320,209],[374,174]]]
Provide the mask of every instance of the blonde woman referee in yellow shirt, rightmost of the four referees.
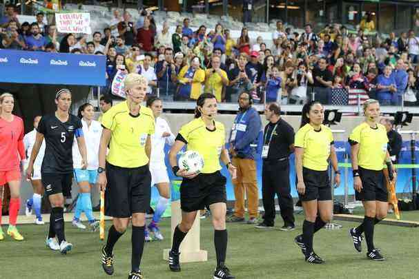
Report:
[[353,129],[349,136],[353,169],[353,188],[356,200],[364,204],[364,222],[359,227],[352,228],[349,233],[355,249],[362,251],[362,233],[367,241],[367,258],[384,260],[384,257],[374,247],[374,225],[387,216],[388,193],[382,169],[384,163],[389,169],[389,178],[393,180],[393,165],[387,151],[386,128],[379,123],[380,104],[369,99],[364,103],[365,121]]

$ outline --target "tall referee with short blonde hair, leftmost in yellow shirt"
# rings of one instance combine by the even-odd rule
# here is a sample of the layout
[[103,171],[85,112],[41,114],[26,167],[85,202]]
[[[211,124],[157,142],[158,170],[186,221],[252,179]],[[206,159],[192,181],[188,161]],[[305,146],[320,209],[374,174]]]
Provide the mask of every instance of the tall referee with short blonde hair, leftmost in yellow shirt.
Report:
[[102,267],[108,275],[113,274],[113,247],[132,217],[131,272],[128,279],[142,279],[139,264],[144,248],[146,210],[150,206],[148,159],[150,135],[154,134],[155,122],[150,108],[141,105],[148,86],[146,78],[131,73],[126,76],[124,85],[126,101],[113,106],[102,118],[104,130],[99,146],[98,184],[102,191],[106,189],[105,214],[113,217],[113,226],[102,248]]

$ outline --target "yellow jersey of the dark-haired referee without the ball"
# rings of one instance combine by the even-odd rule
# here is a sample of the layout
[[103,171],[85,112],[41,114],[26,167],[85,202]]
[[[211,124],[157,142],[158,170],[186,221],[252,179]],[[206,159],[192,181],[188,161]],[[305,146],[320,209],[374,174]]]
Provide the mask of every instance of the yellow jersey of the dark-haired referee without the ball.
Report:
[[320,130],[306,124],[295,134],[295,147],[304,148],[302,166],[316,171],[325,171],[333,144],[333,134],[329,127],[321,125]]

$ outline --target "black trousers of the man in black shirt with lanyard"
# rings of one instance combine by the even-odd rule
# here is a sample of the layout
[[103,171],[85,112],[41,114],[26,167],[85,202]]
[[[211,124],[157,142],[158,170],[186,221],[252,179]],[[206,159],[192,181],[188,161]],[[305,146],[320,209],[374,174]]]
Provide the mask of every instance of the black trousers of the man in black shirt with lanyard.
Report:
[[262,201],[265,209],[264,223],[275,221],[275,195],[280,204],[284,225],[294,225],[294,206],[289,182],[289,161],[266,161],[262,169]]

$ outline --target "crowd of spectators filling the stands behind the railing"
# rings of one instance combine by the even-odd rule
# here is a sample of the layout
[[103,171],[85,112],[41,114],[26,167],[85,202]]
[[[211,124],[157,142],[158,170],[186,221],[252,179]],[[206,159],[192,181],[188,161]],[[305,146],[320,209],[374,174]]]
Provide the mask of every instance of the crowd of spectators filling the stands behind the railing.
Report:
[[373,28],[366,21],[357,33],[341,24],[320,32],[306,24],[299,33],[279,20],[271,39],[253,42],[246,26],[233,39],[220,23],[193,30],[188,18],[173,33],[166,22],[160,30],[147,10],[136,22],[129,12],[114,10],[109,26],[92,36],[59,34],[43,17],[40,12],[35,22],[19,23],[8,6],[0,19],[0,48],[106,55],[105,94],[112,94],[115,75],[138,72],[150,81],[149,92],[166,101],[211,92],[219,101],[237,102],[246,91],[260,103],[302,104],[314,98],[346,105],[359,97],[400,105],[405,96],[406,105],[416,105],[419,37],[413,30],[383,39],[364,34]]

